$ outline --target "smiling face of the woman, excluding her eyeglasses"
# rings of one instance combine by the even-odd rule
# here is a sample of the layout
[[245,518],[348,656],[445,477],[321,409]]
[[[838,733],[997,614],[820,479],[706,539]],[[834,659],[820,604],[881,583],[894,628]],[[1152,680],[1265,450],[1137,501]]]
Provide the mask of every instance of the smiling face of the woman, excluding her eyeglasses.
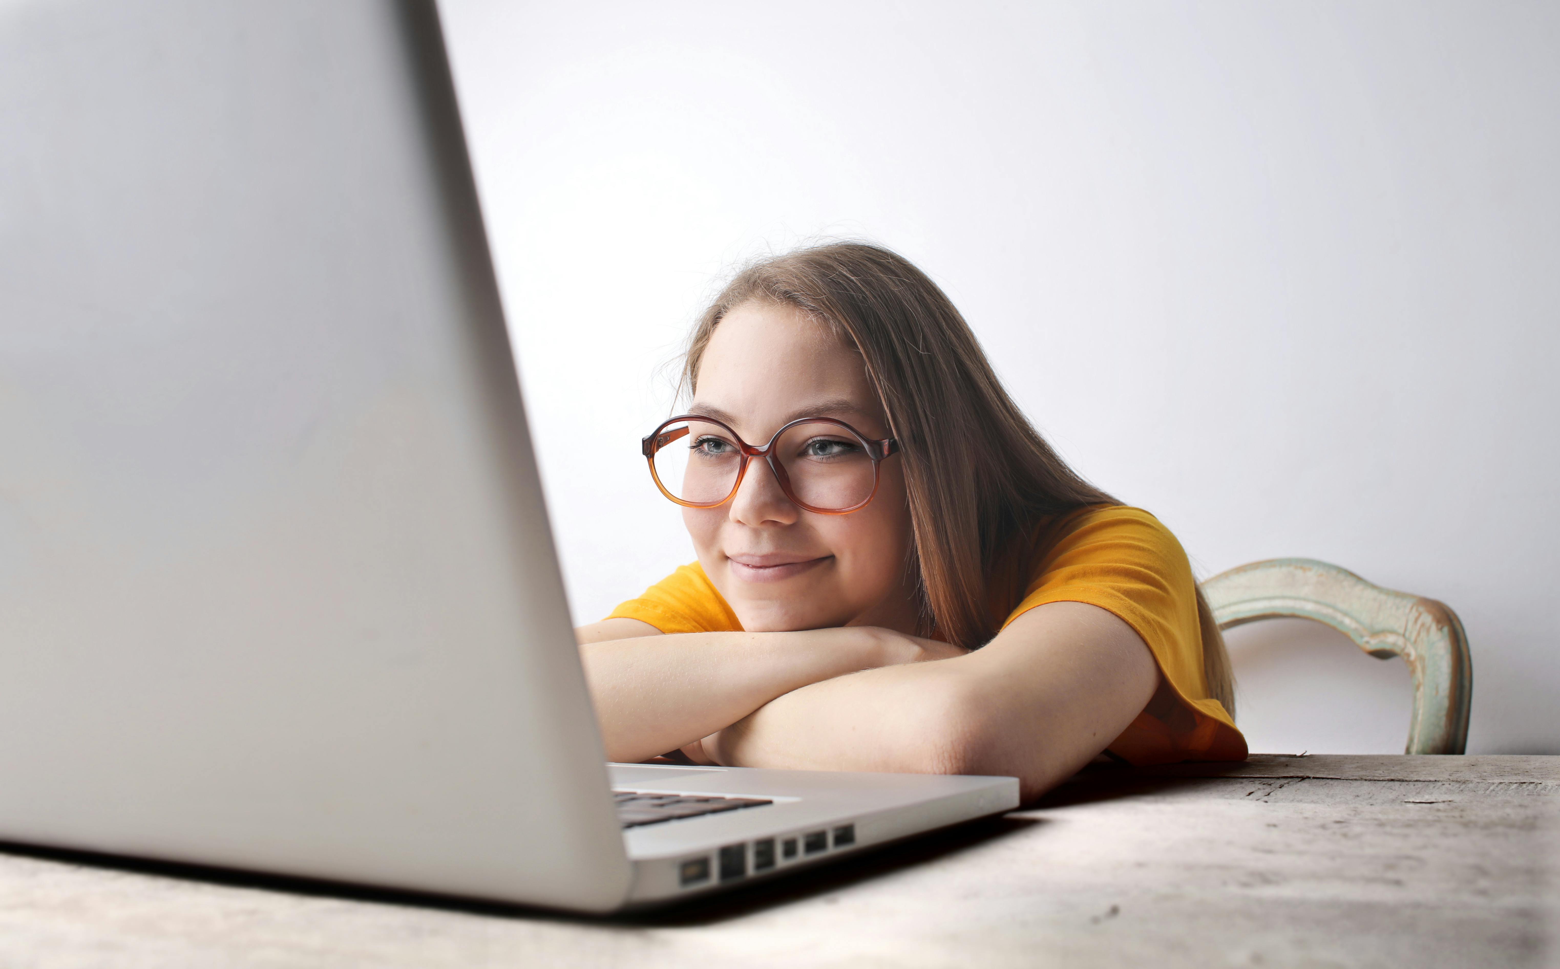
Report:
[[[788,304],[749,301],[716,326],[699,362],[691,414],[764,445],[799,417],[831,417],[889,437],[861,356]],[[813,443],[814,453],[833,445]],[[785,456],[782,456],[785,460]],[[752,632],[886,626],[916,629],[909,507],[900,457],[880,465],[877,496],[849,515],[803,512],[763,459],[736,495],[683,509],[699,563]]]

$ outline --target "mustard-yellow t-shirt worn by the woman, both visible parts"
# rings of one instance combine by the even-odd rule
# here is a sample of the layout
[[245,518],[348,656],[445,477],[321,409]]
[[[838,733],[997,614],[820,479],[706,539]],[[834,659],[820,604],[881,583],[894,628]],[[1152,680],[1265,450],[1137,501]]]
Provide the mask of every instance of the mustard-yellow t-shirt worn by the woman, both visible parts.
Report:
[[[1122,618],[1159,665],[1161,690],[1109,751],[1134,763],[1245,760],[1246,741],[1203,677],[1203,632],[1192,565],[1170,529],[1142,509],[1094,506],[1041,523],[1028,555],[992,576],[1002,626],[1047,602],[1087,602]],[[1026,577],[1026,582],[1014,579]],[[1009,590],[1003,593],[1002,590]],[[1017,598],[1017,601],[1014,601]],[[697,562],[612,610],[665,634],[741,632],[736,613]]]

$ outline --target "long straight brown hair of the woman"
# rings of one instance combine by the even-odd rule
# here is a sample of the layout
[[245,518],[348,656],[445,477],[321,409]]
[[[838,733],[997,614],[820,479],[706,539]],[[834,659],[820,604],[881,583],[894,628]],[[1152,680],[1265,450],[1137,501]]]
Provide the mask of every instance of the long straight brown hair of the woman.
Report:
[[[959,311],[903,256],[836,242],[749,265],[694,326],[685,387],[714,328],[750,300],[794,306],[861,354],[905,462],[924,632],[980,648],[997,632],[991,587],[1016,543],[1042,518],[1120,504],[1045,443]],[[1234,715],[1229,657],[1201,590],[1197,610],[1209,694]]]

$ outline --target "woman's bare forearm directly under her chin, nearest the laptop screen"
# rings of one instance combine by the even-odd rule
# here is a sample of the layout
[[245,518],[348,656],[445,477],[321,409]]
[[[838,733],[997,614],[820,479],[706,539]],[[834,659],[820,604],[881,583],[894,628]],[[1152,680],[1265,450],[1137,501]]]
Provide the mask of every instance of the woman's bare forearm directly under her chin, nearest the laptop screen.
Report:
[[697,743],[808,683],[959,652],[860,626],[661,635],[638,619],[605,619],[576,637],[607,757],[621,761]]

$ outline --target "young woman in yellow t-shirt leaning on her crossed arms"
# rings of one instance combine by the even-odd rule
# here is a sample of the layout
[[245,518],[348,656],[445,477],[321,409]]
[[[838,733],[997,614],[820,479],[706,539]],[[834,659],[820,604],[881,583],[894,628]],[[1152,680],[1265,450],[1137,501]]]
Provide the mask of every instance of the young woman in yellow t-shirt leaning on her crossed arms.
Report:
[[1181,545],[1078,477],[948,298],[839,243],[760,262],[644,438],[699,560],[579,629],[608,757],[1006,774],[1240,760]]

